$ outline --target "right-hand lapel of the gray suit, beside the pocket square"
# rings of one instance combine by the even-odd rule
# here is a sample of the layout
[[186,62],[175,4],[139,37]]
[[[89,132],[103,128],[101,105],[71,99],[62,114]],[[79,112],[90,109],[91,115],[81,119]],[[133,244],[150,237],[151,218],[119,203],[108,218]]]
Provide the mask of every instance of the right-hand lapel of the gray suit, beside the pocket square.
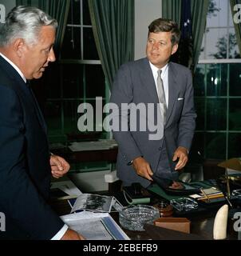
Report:
[[168,120],[172,114],[173,106],[177,99],[177,82],[176,82],[176,70],[174,69],[172,62],[168,64],[168,111],[167,111],[167,120],[166,126],[168,124]]

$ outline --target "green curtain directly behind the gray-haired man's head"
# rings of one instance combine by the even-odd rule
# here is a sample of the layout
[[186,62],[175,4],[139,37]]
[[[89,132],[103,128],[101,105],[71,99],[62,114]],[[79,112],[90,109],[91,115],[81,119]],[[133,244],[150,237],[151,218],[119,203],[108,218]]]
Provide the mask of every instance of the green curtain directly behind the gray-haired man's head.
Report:
[[16,0],[16,4],[17,6],[36,6],[57,20],[58,27],[54,47],[57,58],[59,58],[69,14],[70,0]]

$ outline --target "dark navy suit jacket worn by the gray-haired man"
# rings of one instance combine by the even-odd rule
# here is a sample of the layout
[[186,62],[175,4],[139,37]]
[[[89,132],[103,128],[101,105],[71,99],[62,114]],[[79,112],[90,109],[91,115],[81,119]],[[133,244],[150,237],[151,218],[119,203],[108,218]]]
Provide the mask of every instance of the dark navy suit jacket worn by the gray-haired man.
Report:
[[49,239],[64,223],[46,200],[51,170],[45,122],[30,88],[0,56],[0,239]]

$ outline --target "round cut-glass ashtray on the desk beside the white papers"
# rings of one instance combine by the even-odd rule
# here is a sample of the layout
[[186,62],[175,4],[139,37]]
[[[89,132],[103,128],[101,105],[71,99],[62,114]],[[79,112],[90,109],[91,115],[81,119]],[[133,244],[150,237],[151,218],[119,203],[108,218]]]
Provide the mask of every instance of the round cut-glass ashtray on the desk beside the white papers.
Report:
[[153,224],[159,218],[159,210],[153,206],[124,206],[119,213],[119,222],[126,230],[144,231],[144,224]]

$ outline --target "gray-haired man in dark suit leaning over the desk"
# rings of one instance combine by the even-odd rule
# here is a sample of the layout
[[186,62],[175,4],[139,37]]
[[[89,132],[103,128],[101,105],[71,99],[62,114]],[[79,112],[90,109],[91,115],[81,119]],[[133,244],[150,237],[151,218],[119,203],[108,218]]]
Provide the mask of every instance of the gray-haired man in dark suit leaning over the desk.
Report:
[[49,156],[45,121],[27,81],[55,61],[57,22],[35,7],[17,6],[0,31],[0,239],[81,239],[46,203],[50,176],[69,164]]

